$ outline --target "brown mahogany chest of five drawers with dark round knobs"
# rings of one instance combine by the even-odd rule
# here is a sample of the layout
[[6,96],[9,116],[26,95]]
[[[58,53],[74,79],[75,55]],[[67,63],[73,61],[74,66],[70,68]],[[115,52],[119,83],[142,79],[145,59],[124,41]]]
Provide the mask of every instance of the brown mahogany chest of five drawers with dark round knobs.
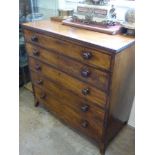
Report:
[[64,26],[23,24],[35,105],[99,145],[126,124],[134,98],[134,38]]

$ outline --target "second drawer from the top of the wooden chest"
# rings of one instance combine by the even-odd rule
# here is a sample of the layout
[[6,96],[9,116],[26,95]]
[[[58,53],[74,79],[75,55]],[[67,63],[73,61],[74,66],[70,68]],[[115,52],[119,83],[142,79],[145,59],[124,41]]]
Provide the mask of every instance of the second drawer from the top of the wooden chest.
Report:
[[26,44],[26,47],[29,56],[35,57],[43,62],[51,64],[61,71],[64,71],[71,76],[83,80],[84,82],[88,82],[101,90],[108,90],[108,73],[94,69],[93,67],[70,59],[58,53],[39,48],[29,43]]

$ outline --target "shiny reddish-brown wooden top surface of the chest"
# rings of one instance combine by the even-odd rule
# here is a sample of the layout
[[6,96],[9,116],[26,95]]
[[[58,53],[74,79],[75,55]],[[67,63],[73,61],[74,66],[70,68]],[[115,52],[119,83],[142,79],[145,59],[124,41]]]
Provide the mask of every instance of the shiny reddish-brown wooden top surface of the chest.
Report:
[[104,33],[89,31],[62,25],[55,21],[37,21],[23,24],[23,27],[30,30],[35,30],[47,35],[55,35],[64,38],[65,40],[73,40],[84,43],[85,45],[92,45],[97,48],[103,48],[110,52],[119,52],[134,43],[133,37],[123,35],[108,35]]

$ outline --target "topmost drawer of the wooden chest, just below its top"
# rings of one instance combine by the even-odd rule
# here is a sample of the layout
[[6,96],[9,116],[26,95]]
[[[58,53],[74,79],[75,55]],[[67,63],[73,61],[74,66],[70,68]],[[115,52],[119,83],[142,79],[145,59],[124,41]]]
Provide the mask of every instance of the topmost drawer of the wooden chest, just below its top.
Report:
[[111,69],[111,56],[103,53],[104,51],[85,48],[83,45],[77,45],[29,30],[24,30],[24,34],[27,42],[55,50],[86,64],[94,65],[106,70]]

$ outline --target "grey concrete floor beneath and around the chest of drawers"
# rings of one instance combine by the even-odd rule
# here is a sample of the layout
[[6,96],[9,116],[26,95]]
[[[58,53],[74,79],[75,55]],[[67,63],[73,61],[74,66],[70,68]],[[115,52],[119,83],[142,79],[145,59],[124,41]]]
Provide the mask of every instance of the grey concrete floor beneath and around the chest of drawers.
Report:
[[[99,148],[53,117],[34,107],[33,95],[20,88],[20,155],[100,155]],[[110,143],[106,155],[134,155],[135,131],[125,127]]]

